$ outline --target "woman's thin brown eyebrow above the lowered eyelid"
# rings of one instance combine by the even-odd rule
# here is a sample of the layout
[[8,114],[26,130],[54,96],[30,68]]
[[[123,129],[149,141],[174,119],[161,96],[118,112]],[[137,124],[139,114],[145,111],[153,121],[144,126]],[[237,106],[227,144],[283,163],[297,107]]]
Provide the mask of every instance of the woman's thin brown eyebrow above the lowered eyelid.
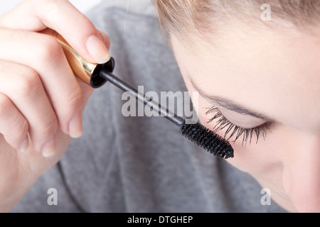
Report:
[[219,106],[222,106],[223,108],[228,109],[230,111],[234,111],[238,114],[245,114],[245,115],[253,116],[255,118],[260,118],[265,121],[272,121],[271,118],[263,114],[257,113],[255,111],[251,111],[250,109],[247,109],[245,106],[240,106],[239,104],[235,104],[235,102],[231,101],[230,99],[225,99],[220,96],[206,94],[206,92],[203,92],[203,90],[198,87],[198,85],[196,84],[196,82],[193,81],[190,75],[188,75],[188,78],[190,79],[190,82],[193,88],[196,89],[196,92],[198,92],[201,96],[203,96],[203,98],[207,99],[211,103],[218,104]]

